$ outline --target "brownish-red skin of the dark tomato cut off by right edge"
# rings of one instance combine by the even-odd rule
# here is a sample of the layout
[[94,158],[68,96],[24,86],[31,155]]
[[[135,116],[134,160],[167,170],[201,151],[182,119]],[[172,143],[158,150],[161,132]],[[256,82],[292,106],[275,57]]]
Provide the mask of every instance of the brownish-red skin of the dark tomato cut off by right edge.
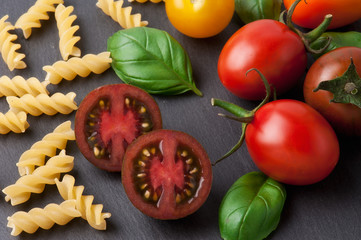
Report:
[[353,104],[333,103],[331,92],[318,90],[318,84],[342,76],[350,65],[350,58],[361,74],[361,48],[342,47],[335,49],[313,63],[306,75],[303,93],[306,103],[319,111],[337,132],[361,136],[361,109]]

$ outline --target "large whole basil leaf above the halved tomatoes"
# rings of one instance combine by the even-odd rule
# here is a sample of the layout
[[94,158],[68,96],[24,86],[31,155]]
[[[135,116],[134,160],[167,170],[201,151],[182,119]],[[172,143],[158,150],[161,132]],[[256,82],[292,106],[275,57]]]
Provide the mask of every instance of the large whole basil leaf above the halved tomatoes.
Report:
[[190,59],[167,32],[136,27],[120,30],[108,39],[112,67],[125,83],[151,94],[202,93],[193,82]]

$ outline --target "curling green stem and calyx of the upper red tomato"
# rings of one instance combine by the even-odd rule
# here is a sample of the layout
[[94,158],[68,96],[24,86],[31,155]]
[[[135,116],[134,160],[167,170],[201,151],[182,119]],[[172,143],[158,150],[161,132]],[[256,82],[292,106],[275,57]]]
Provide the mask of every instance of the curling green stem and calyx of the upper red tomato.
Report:
[[[298,36],[300,36],[300,38],[302,39],[303,44],[305,45],[305,48],[308,52],[312,53],[312,54],[321,54],[322,52],[324,52],[328,46],[331,44],[332,38],[331,37],[327,37],[325,45],[320,48],[320,49],[313,49],[310,45],[311,43],[313,43],[314,41],[316,41],[319,37],[321,37],[321,35],[326,32],[328,26],[331,23],[332,20],[332,14],[327,14],[324,18],[324,20],[322,21],[322,23],[320,25],[318,25],[315,29],[311,30],[308,33],[303,33],[301,32],[299,29],[297,29],[292,22],[292,15],[293,12],[296,8],[296,6],[298,5],[299,2],[301,2],[302,0],[296,0],[290,7],[290,9],[286,12],[286,10],[284,12],[282,12],[281,16],[280,16],[280,21],[283,22],[284,24],[286,24],[292,31],[294,31]],[[284,19],[284,15],[286,15],[286,22],[283,21]]]

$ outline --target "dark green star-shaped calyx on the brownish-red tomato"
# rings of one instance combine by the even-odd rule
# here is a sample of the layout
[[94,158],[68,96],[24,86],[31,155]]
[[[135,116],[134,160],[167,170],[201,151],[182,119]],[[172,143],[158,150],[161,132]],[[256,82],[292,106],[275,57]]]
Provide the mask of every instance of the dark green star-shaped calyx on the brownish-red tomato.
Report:
[[342,76],[320,82],[313,91],[317,92],[318,90],[333,93],[330,102],[350,103],[361,108],[361,77],[356,70],[352,57],[350,58],[350,65]]

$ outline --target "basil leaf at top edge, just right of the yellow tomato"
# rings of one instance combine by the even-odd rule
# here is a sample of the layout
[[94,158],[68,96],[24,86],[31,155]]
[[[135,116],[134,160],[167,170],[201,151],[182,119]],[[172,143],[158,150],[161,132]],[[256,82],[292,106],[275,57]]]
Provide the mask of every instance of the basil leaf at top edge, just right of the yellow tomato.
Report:
[[236,13],[244,23],[259,19],[278,20],[282,0],[235,0]]

